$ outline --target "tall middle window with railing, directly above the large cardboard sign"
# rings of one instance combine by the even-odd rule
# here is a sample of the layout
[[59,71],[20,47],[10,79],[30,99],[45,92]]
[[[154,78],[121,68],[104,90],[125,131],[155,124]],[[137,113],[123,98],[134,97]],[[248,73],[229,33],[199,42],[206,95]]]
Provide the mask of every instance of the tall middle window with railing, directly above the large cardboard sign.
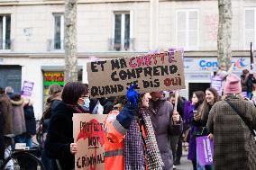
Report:
[[114,50],[129,50],[130,39],[130,12],[114,13]]

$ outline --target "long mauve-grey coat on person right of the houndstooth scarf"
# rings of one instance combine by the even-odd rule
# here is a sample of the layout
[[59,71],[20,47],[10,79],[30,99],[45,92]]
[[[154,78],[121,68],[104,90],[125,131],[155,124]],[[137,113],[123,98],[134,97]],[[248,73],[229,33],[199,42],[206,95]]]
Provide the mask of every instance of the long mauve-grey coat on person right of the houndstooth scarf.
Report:
[[173,166],[172,150],[170,148],[170,136],[177,136],[181,132],[181,125],[173,125],[172,103],[161,99],[152,106],[155,113],[151,116],[151,122],[155,130],[156,139],[160,148],[160,155],[164,163],[164,170],[170,170]]

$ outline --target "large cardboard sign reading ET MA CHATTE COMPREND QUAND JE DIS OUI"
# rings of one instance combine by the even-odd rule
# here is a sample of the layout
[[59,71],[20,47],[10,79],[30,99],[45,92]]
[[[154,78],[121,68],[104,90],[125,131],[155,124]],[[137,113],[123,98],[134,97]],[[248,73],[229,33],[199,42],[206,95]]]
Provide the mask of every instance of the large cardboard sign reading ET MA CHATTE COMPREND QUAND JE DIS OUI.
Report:
[[87,63],[90,95],[123,95],[136,84],[138,93],[185,88],[181,51],[114,58]]

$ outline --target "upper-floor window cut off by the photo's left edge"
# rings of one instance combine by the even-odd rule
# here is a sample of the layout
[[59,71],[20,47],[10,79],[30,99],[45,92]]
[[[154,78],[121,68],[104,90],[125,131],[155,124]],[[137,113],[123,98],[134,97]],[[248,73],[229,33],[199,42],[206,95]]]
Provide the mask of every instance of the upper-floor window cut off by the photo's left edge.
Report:
[[11,15],[0,15],[0,49],[11,49]]

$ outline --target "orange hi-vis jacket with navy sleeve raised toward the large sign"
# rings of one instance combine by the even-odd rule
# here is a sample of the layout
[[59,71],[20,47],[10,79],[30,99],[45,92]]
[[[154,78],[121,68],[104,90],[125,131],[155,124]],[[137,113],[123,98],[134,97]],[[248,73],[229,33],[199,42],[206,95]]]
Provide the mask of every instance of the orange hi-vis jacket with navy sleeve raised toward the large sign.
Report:
[[[105,170],[124,170],[123,139],[134,119],[134,110],[125,107],[122,112],[125,114],[110,112],[105,120]],[[143,126],[142,135],[146,137]]]

